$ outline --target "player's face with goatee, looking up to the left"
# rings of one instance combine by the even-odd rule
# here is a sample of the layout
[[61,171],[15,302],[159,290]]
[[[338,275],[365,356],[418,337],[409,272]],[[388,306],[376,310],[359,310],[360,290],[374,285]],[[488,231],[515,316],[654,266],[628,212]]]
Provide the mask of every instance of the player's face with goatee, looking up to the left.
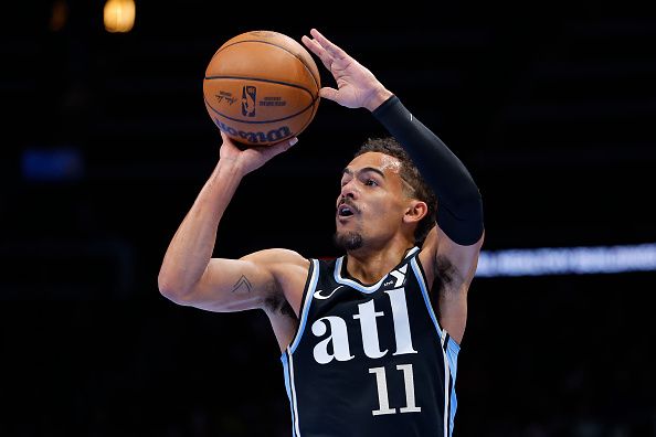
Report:
[[335,218],[342,248],[382,246],[399,231],[408,201],[400,170],[396,158],[380,152],[360,154],[343,170]]

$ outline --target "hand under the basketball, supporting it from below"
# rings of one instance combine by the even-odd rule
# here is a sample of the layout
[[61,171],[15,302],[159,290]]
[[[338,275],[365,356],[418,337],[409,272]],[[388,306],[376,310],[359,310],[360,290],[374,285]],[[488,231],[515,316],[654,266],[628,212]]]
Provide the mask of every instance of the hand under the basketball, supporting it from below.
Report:
[[235,166],[242,175],[257,170],[273,157],[288,150],[298,142],[298,138],[292,137],[275,145],[248,147],[242,150],[225,134],[221,132],[221,138],[223,139],[221,150],[219,151],[221,161]]

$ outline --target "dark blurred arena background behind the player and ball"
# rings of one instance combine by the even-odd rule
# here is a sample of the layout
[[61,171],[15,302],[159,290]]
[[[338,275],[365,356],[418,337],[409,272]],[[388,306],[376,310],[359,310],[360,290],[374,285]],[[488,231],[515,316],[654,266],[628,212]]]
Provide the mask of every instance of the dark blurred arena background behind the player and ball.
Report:
[[[131,31],[113,33],[104,4],[3,7],[0,436],[288,435],[264,315],[174,306],[157,274],[219,157],[210,57],[244,31],[299,40],[313,26],[480,188],[485,267],[455,435],[656,436],[656,17],[137,0]],[[215,255],[338,255],[339,173],[383,134],[364,110],[321,102],[299,143],[244,181]]]

